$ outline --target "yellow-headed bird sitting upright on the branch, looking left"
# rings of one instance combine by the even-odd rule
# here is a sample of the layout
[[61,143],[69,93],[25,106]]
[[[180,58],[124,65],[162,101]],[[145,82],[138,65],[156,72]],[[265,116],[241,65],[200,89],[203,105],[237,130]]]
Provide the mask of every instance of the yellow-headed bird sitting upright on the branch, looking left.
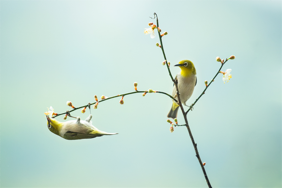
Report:
[[[176,75],[175,78],[178,79],[178,89],[180,93],[180,101],[185,106],[187,100],[191,97],[194,87],[197,83],[197,76],[196,76],[196,69],[194,67],[194,64],[189,60],[182,60],[179,62],[179,64],[174,65],[179,66],[181,71]],[[173,91],[172,96],[175,96],[176,94],[176,87],[173,84]],[[178,97],[176,97],[176,100],[178,100]],[[191,106],[187,106],[190,107]],[[168,118],[176,118],[177,117],[177,111],[178,111],[179,105],[173,101],[172,107],[170,109],[170,112],[167,114]]]

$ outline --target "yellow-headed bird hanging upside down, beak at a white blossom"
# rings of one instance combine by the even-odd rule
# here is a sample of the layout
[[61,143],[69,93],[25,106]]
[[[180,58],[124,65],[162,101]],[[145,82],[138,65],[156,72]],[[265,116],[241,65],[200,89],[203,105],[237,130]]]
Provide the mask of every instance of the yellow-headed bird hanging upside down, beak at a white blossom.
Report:
[[58,122],[54,118],[47,117],[47,127],[49,130],[67,140],[78,140],[86,138],[95,138],[103,135],[112,135],[118,133],[106,133],[104,131],[98,130],[92,125],[90,121],[92,115],[90,114],[85,121],[81,120],[80,117],[77,117],[76,120],[70,120],[67,122]]

